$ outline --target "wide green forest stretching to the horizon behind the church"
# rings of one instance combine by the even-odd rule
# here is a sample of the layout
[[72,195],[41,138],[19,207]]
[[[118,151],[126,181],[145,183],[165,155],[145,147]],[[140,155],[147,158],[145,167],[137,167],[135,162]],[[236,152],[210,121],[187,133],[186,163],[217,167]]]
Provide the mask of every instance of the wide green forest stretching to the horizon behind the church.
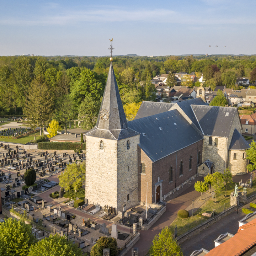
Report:
[[[236,78],[256,79],[256,56],[117,56],[113,57],[119,92],[128,113],[143,100],[155,100],[150,80],[158,74],[196,72],[212,89],[225,85],[239,89]],[[23,115],[34,126],[57,119],[84,119],[83,128],[94,126],[105,89],[109,57],[0,57],[0,115]],[[189,87],[199,82],[181,82]]]

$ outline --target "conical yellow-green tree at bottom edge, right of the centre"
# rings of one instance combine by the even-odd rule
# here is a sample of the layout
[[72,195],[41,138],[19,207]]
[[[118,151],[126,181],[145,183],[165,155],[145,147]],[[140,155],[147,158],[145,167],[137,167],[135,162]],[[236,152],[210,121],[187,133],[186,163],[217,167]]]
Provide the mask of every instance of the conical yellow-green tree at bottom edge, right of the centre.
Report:
[[162,231],[155,235],[153,245],[150,247],[150,255],[152,256],[182,256],[180,246],[174,239],[174,234],[170,228],[166,226]]

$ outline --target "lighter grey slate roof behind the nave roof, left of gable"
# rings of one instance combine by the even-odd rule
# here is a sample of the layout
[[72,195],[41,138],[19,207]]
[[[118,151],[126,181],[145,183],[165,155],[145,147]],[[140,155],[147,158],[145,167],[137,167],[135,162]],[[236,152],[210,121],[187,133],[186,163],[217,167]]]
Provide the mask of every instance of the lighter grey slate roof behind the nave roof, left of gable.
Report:
[[139,119],[142,117],[152,116],[154,114],[159,114],[168,111],[175,103],[166,102],[153,102],[153,101],[143,101],[140,108],[134,118]]

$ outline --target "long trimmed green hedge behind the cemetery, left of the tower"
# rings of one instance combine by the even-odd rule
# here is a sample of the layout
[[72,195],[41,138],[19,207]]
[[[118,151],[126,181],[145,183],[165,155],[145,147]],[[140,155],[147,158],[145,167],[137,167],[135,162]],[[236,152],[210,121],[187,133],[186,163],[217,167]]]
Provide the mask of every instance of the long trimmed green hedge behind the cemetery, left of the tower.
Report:
[[38,149],[55,149],[55,150],[85,150],[85,143],[79,142],[38,142]]

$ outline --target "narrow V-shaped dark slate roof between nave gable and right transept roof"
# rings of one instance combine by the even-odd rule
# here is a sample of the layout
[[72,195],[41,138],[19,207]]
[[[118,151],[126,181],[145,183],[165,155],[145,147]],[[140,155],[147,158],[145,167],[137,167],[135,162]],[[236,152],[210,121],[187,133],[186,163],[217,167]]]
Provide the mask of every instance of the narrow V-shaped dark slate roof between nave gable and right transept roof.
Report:
[[184,113],[187,115],[187,117],[194,123],[194,125],[201,130],[196,116],[194,115],[194,112],[191,108],[191,105],[203,105],[203,106],[208,106],[208,104],[206,102],[203,101],[203,99],[201,97],[198,98],[194,98],[192,100],[188,100],[188,101],[180,101],[176,103],[183,111]]

